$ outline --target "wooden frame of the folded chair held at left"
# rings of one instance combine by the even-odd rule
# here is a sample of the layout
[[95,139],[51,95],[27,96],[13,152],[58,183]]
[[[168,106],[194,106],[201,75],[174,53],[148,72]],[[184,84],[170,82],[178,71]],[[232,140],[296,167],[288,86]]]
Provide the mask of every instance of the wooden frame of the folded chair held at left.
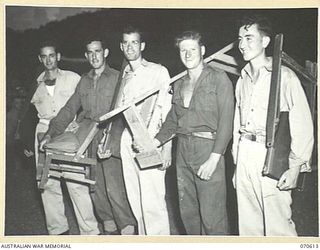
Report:
[[[85,136],[82,140],[80,139],[81,141],[79,140],[79,147],[74,152],[64,152],[61,148],[46,148],[45,154],[40,155],[37,166],[37,178],[40,181],[39,189],[45,189],[49,178],[64,178],[89,184],[90,192],[93,192],[97,160],[86,157],[85,151],[98,131],[98,123],[91,122],[85,131],[81,131],[85,133]],[[84,174],[84,178],[70,176],[70,173]]]

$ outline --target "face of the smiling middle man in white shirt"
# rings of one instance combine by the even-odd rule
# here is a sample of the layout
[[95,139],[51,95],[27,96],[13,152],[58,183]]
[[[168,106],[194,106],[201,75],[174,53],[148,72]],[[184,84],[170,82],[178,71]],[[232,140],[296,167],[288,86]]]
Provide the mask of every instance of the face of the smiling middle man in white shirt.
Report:
[[123,34],[120,49],[128,61],[136,61],[142,57],[145,43],[140,41],[138,33]]

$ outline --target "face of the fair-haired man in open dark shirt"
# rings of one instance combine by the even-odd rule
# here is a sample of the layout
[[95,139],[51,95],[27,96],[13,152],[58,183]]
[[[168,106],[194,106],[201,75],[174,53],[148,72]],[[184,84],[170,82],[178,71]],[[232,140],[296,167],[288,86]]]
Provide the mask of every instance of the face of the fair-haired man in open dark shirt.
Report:
[[187,69],[194,69],[203,62],[205,47],[197,40],[187,39],[179,43],[180,59]]

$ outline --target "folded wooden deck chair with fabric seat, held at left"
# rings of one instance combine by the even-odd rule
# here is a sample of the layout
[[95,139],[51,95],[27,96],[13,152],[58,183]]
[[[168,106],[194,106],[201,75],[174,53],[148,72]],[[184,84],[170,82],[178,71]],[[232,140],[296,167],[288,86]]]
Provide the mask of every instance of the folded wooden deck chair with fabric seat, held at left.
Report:
[[[37,166],[39,189],[45,189],[48,178],[64,178],[89,184],[90,191],[94,191],[97,160],[86,157],[85,151],[99,131],[98,125],[85,120],[76,133],[65,132],[45,145],[45,154],[39,156]],[[84,178],[70,176],[70,173],[84,174]]]

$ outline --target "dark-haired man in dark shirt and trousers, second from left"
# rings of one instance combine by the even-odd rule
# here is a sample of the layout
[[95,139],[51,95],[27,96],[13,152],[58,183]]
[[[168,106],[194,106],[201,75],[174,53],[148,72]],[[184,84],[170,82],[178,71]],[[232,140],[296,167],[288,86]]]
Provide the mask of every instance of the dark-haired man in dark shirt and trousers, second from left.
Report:
[[[91,121],[109,111],[119,72],[110,68],[106,63],[108,54],[109,50],[104,47],[100,39],[91,39],[86,43],[85,56],[92,70],[81,77],[75,93],[59,114],[51,120],[49,130],[40,143],[40,148],[51,138],[63,133],[80,108],[82,112],[79,117]],[[120,126],[119,119],[117,119],[117,126],[112,126],[115,133],[119,132],[115,130],[121,130],[123,127]],[[79,120],[78,122],[81,123]],[[102,129],[89,148],[89,153],[93,157],[97,155],[97,147],[101,138]],[[114,140],[110,140],[111,148],[119,151],[120,135],[112,136],[112,138]],[[117,155],[119,153],[113,152],[113,156]],[[98,161],[96,176],[96,189],[91,197],[97,215],[103,221],[104,230],[107,234],[114,234],[117,230],[120,230],[121,234],[134,234],[136,221],[126,196],[121,160],[111,157]]]

